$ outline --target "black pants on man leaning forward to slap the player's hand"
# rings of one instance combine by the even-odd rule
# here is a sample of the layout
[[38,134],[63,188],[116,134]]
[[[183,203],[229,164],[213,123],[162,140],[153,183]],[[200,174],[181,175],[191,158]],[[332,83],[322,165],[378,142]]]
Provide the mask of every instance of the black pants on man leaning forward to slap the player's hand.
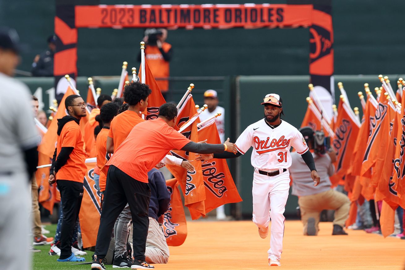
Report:
[[107,173],[104,202],[98,227],[96,250],[98,258],[105,257],[111,240],[111,231],[117,217],[129,204],[134,232],[132,238],[134,258],[145,260],[145,245],[149,227],[149,199],[151,190],[148,183],[140,182],[111,165]]

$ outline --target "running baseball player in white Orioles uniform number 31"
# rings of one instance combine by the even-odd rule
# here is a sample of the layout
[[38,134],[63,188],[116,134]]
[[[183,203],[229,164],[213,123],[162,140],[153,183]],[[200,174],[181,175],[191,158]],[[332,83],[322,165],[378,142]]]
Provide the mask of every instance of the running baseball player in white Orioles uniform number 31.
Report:
[[268,94],[261,104],[264,105],[264,119],[248,126],[239,136],[235,142],[237,154],[201,154],[197,159],[234,158],[245,154],[250,147],[254,148],[251,159],[254,167],[253,222],[258,226],[259,236],[266,238],[271,218],[269,265],[280,266],[285,221],[283,213],[290,189],[288,167],[291,166],[291,146],[301,154],[309,167],[314,186],[319,184],[320,177],[303,135],[280,118],[283,114],[280,96]]

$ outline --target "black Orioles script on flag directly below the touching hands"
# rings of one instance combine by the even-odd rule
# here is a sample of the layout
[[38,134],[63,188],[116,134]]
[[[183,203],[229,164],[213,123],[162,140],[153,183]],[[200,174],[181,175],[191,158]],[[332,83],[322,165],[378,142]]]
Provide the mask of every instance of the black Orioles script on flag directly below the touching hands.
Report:
[[[209,189],[213,195],[218,198],[222,198],[226,191],[224,186],[225,174],[220,172],[217,174],[217,168],[215,167],[215,161],[201,165],[203,168],[204,185]],[[207,181],[205,181],[207,179]]]

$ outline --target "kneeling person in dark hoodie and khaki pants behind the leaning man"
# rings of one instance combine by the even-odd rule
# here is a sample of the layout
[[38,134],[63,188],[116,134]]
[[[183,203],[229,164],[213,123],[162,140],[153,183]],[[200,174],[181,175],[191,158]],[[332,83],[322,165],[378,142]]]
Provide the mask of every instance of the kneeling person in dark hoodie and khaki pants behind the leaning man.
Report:
[[[149,199],[149,228],[146,238],[145,260],[148,264],[167,264],[169,248],[162,231],[164,213],[170,205],[170,192],[161,171],[148,172],[151,198]],[[134,232],[135,233],[135,232]]]

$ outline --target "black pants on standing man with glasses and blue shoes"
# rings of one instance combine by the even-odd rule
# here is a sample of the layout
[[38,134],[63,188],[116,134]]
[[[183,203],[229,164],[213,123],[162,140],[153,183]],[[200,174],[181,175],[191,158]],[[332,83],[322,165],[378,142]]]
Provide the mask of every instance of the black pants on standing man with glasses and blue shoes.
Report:
[[65,259],[72,254],[72,236],[83,199],[83,182],[57,180],[56,184],[62,199],[63,213],[60,228],[60,257]]

